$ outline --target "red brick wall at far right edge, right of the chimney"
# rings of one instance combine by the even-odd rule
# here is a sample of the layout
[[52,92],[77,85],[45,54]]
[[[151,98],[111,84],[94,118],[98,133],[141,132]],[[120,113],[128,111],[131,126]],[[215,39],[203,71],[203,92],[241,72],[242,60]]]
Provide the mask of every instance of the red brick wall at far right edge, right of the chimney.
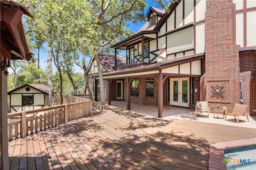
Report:
[[[250,79],[250,75],[254,79]],[[256,115],[256,52],[248,51],[240,54],[240,77],[242,80],[242,97],[249,107],[250,115]],[[248,88],[250,87],[250,88]]]

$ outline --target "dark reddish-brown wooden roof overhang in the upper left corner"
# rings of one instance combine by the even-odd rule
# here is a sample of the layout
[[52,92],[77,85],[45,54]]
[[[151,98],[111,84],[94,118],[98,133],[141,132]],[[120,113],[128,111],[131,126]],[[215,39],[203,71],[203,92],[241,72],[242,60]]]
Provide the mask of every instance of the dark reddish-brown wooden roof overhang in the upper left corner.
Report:
[[22,15],[33,17],[26,7],[13,0],[0,0],[1,21],[1,57],[0,61],[10,67],[11,59],[25,59],[32,57],[26,41],[22,24]]

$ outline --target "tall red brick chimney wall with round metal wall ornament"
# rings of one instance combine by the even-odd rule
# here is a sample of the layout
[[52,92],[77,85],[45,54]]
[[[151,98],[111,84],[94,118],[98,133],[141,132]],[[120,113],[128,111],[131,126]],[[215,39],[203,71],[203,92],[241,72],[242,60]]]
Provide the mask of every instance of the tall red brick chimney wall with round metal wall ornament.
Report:
[[[240,103],[240,66],[239,47],[233,45],[232,1],[207,0],[206,6],[205,74],[200,80],[200,100],[234,106]],[[224,98],[212,97],[217,85],[225,87]]]

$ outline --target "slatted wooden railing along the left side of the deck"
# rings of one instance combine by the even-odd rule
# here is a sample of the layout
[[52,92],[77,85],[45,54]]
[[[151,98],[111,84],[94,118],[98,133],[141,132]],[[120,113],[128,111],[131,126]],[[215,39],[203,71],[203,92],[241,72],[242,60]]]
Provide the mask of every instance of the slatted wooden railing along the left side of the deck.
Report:
[[[8,119],[11,122],[8,123],[8,139],[13,140],[24,137],[92,113],[92,101],[88,99],[69,95],[65,97],[65,100],[70,103],[31,111],[9,113]],[[39,114],[40,116],[34,117],[34,115]],[[30,117],[26,117],[26,115]]]

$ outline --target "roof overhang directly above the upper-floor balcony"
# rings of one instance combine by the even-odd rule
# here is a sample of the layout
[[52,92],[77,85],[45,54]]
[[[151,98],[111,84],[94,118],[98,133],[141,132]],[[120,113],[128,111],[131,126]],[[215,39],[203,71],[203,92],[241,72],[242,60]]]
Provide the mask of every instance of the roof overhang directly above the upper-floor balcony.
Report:
[[145,40],[154,40],[156,39],[156,33],[159,32],[159,30],[150,30],[150,31],[141,31],[133,36],[126,38],[125,40],[118,42],[114,45],[112,45],[112,48],[115,49],[127,49],[127,46],[136,43],[136,42],[142,42],[142,37]]

